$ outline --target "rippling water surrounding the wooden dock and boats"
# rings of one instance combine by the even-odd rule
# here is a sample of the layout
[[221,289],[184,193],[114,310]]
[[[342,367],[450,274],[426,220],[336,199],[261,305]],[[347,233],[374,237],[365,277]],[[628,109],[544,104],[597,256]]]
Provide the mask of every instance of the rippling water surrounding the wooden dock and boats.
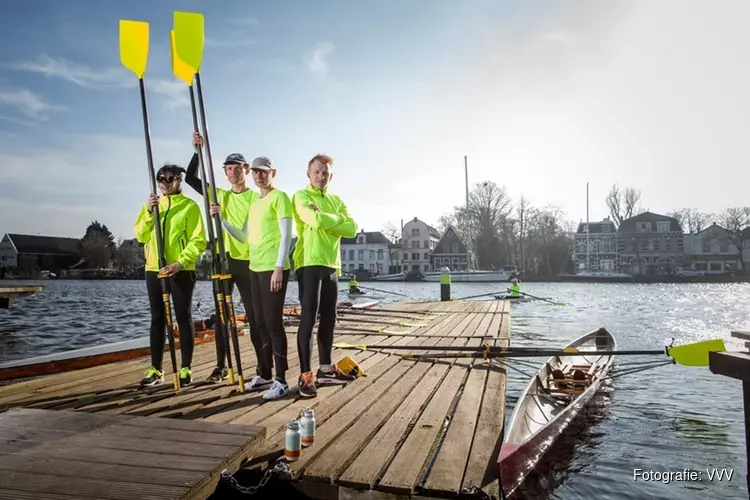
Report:
[[[9,282],[3,282],[9,283]],[[24,284],[30,284],[24,282]],[[46,281],[43,293],[0,310],[0,360],[16,359],[147,335],[145,283]],[[437,299],[437,283],[362,283]],[[499,290],[502,284],[454,284],[453,296]],[[747,284],[528,283],[523,290],[568,305],[513,306],[513,345],[561,346],[582,333],[607,327],[619,347],[658,349],[723,337],[741,344],[733,328],[750,326]],[[210,282],[196,290],[196,316],[213,308]],[[375,292],[373,292],[375,293]],[[295,302],[290,283],[289,302]],[[387,300],[400,300],[393,297]],[[241,310],[241,306],[238,304]],[[640,360],[641,358],[638,358]],[[619,365],[635,361],[620,356]],[[533,369],[522,368],[531,373]],[[508,417],[527,380],[509,374]],[[527,487],[529,498],[729,499],[747,498],[740,383],[708,368],[665,366],[611,381],[569,429]],[[708,479],[707,469],[734,469],[731,481]],[[633,480],[633,470],[702,471],[700,482]]]

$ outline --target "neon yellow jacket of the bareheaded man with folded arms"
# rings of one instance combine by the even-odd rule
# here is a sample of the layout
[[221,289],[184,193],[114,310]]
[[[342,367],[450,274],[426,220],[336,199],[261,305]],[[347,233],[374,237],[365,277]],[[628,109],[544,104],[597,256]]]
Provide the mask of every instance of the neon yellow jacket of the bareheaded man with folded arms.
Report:
[[[292,197],[298,238],[294,248],[294,267],[331,267],[341,275],[341,238],[354,238],[358,228],[341,198],[327,191],[308,185]],[[320,212],[312,210],[311,203]]]

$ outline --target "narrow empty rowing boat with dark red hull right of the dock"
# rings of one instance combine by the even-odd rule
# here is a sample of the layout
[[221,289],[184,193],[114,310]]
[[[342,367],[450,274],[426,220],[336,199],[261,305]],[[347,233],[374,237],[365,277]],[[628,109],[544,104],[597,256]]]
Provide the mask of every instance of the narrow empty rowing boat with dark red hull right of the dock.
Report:
[[[566,347],[613,351],[615,338],[605,328]],[[614,355],[553,356],[531,378],[516,403],[497,459],[500,484],[511,495],[554,441],[599,390]]]

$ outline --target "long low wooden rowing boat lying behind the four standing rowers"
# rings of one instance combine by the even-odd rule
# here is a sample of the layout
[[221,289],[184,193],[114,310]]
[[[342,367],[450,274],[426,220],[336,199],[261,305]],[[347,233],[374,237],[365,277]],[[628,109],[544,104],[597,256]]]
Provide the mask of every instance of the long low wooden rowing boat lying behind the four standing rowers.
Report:
[[[379,303],[380,301],[377,300],[360,304],[339,302],[339,310],[369,309],[375,307]],[[299,314],[299,307],[284,308],[284,315],[295,316]],[[244,314],[237,315],[238,326],[245,323],[245,320],[246,316]],[[196,345],[213,342],[215,340],[213,324],[213,318],[194,321],[194,342]],[[244,335],[246,331],[245,328],[240,328],[238,334]],[[175,348],[179,349],[180,331],[177,325],[174,325],[174,332]],[[168,348],[168,345],[165,343],[165,349]],[[84,368],[116,363],[118,361],[141,358],[150,354],[151,347],[149,338],[140,337],[102,346],[86,347],[83,349],[74,349],[55,354],[36,356],[33,358],[7,361],[5,363],[0,363],[0,382],[81,370]]]

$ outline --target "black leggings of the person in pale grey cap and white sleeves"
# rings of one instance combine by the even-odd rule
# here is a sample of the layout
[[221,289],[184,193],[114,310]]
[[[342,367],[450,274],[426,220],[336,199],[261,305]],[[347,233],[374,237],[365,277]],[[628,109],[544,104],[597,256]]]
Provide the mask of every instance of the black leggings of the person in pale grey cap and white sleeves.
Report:
[[253,291],[253,311],[255,323],[260,331],[263,347],[260,350],[260,376],[271,379],[271,369],[276,367],[276,378],[285,381],[287,368],[287,343],[284,330],[284,300],[289,271],[284,271],[281,290],[271,291],[273,271],[250,271]]

